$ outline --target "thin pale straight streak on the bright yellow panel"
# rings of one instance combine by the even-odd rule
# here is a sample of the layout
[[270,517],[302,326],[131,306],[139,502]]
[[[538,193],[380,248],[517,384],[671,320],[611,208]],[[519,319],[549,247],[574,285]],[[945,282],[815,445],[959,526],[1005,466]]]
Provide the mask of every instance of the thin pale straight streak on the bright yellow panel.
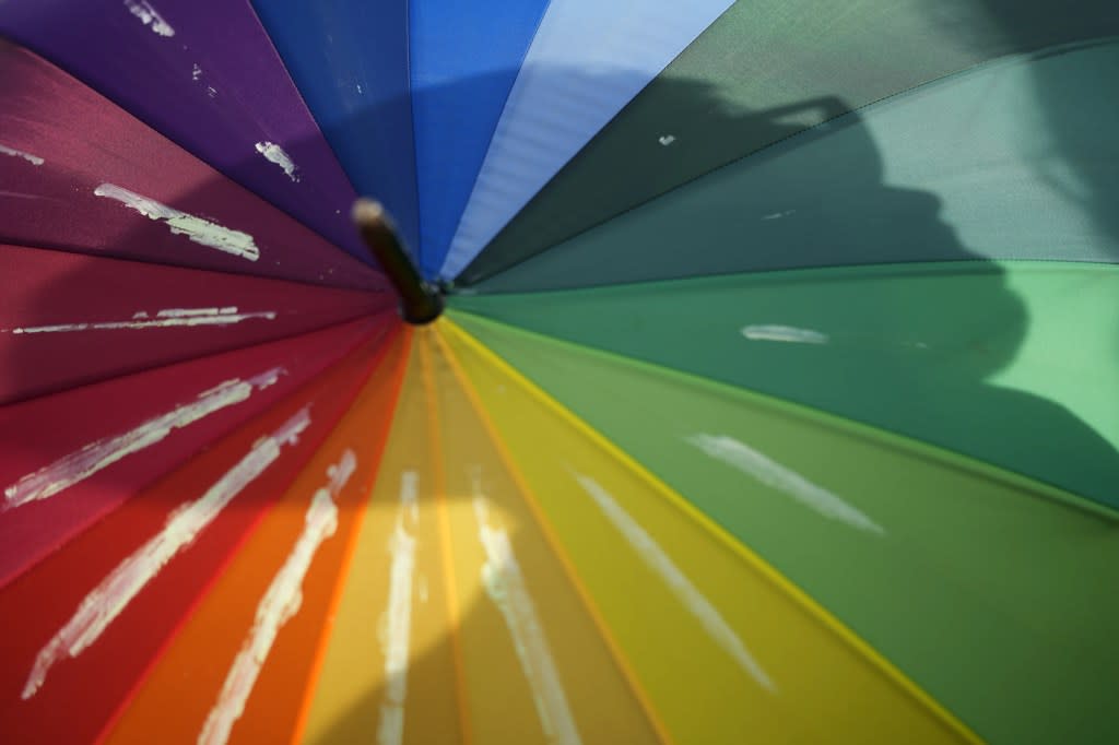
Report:
[[[574,472],[573,472],[574,473]],[[614,528],[626,538],[641,560],[668,585],[676,598],[699,621],[707,635],[726,652],[742,670],[753,678],[759,686],[770,692],[777,692],[777,685],[762,666],[754,659],[711,601],[700,593],[660,545],[622,509],[614,498],[594,479],[574,473],[579,485],[591,496],[602,513],[613,524]]]

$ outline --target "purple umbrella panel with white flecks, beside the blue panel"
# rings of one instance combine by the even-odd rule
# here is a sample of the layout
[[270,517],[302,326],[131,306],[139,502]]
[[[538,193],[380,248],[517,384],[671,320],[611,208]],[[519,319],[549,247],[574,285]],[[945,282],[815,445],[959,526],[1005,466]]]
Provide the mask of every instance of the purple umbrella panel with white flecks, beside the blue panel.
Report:
[[247,0],[18,0],[0,32],[365,260],[354,188]]

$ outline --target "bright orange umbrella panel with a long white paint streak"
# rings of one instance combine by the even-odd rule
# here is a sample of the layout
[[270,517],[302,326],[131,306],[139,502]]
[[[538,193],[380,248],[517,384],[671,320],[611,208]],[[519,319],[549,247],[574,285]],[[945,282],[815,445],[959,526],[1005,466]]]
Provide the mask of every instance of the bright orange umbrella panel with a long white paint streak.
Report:
[[379,353],[364,350],[376,367],[358,398],[122,704],[106,742],[290,736],[379,458],[402,347],[397,334]]

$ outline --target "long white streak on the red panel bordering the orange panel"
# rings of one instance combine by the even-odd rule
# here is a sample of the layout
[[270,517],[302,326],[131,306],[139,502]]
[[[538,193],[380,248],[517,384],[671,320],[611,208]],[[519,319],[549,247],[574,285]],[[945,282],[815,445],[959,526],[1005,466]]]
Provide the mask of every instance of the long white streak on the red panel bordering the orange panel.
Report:
[[23,699],[35,696],[56,662],[77,657],[97,641],[168,562],[190,546],[234,497],[280,458],[281,449],[295,443],[310,424],[310,414],[304,408],[271,435],[258,440],[205,494],[175,510],[159,534],[106,575],[78,604],[66,625],[39,650],[23,686]]

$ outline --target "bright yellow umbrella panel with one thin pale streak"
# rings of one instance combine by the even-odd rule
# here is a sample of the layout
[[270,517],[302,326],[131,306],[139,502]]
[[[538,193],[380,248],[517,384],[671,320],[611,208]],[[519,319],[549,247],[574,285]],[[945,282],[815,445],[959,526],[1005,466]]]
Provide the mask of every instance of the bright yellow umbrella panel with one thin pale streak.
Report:
[[453,323],[441,329],[674,739],[974,739],[678,494]]

